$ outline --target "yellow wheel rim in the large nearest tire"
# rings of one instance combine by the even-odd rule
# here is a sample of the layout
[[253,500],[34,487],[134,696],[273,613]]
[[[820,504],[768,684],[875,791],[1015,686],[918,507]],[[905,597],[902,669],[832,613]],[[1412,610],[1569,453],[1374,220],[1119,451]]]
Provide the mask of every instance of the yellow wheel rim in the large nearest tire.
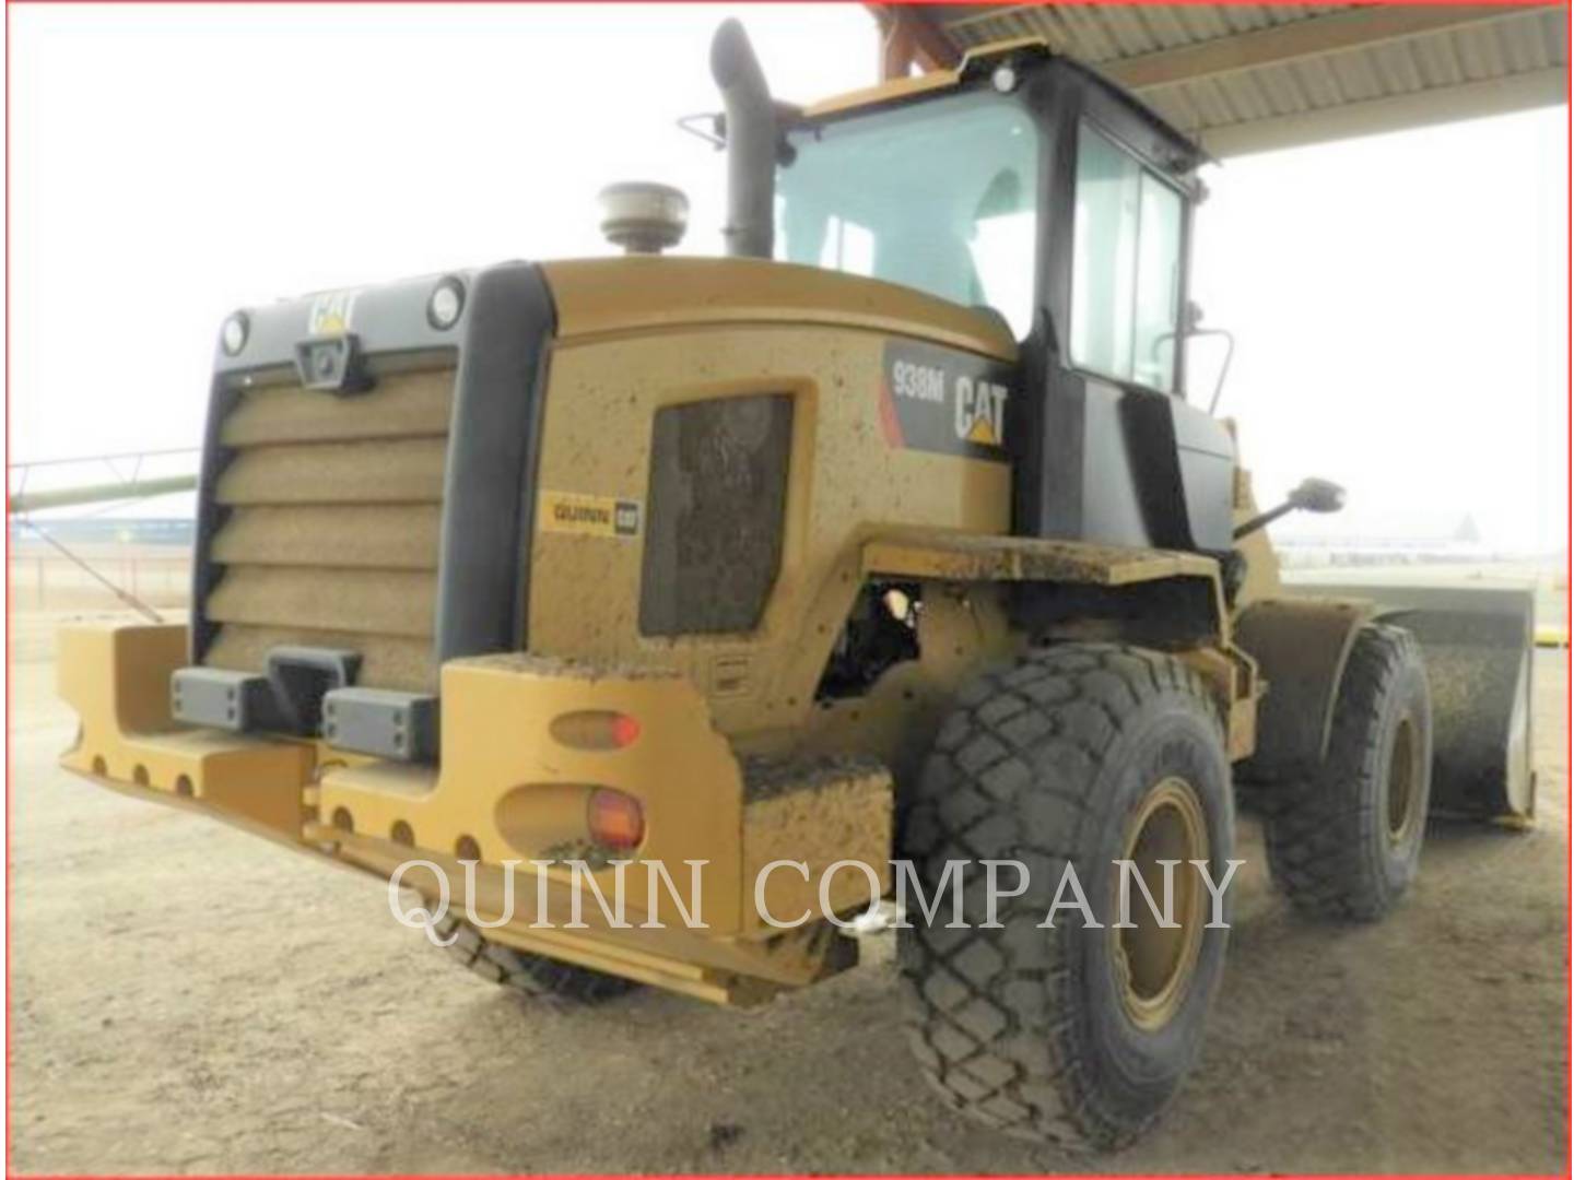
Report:
[[[1143,799],[1132,820],[1125,842],[1125,861],[1133,862],[1158,908],[1163,909],[1165,873],[1160,861],[1179,861],[1174,867],[1174,909],[1177,924],[1165,928],[1149,909],[1141,887],[1130,884],[1130,927],[1116,928],[1114,961],[1121,982],[1125,1013],[1141,1029],[1155,1031],[1168,1024],[1185,1002],[1203,949],[1206,891],[1190,861],[1210,861],[1207,821],[1196,788],[1185,779],[1168,777]],[[1114,920],[1119,920],[1121,875],[1114,886]]]

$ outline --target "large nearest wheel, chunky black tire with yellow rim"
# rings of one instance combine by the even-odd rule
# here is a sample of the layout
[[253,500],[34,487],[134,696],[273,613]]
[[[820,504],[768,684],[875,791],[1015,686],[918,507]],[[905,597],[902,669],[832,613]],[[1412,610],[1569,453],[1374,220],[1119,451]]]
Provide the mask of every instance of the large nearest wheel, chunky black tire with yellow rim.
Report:
[[[902,835],[932,903],[946,864],[966,862],[965,928],[946,928],[948,895],[933,924],[910,903],[899,931],[910,1040],[944,1101],[1066,1147],[1114,1149],[1151,1127],[1196,1060],[1229,931],[1204,928],[1207,897],[1184,864],[1177,935],[1154,933],[1135,887],[1140,928],[1108,928],[1114,861],[1203,859],[1225,881],[1232,823],[1218,713],[1180,661],[1067,643],[966,686]],[[987,859],[1028,868],[1020,897],[1004,895],[1017,881],[999,870],[999,928],[982,925]],[[1105,928],[1064,908],[1040,927],[1058,895],[1070,900],[1067,862]],[[1162,900],[1162,879],[1143,879]]]

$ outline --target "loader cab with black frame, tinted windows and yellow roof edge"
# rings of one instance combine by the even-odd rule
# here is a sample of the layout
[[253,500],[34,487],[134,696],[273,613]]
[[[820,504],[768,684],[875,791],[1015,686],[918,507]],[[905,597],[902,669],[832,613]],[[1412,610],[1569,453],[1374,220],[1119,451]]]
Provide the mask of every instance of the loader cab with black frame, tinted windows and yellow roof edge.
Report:
[[774,250],[1004,319],[1017,533],[1225,554],[1234,442],[1180,393],[1204,160],[1042,42],[985,47],[792,120]]

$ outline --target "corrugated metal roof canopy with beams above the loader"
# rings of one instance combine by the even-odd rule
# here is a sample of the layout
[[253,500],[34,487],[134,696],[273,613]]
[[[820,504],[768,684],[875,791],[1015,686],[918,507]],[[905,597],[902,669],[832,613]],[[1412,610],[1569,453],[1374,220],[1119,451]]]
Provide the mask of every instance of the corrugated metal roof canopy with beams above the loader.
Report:
[[1565,5],[869,5],[881,74],[1040,36],[1214,156],[1568,102]]

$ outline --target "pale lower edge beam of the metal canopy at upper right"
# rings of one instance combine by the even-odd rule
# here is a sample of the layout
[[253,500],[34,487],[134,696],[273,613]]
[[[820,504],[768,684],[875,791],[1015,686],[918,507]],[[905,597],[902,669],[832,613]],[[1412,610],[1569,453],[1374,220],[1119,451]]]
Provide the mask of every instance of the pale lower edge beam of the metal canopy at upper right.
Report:
[[1506,115],[1560,102],[1568,102],[1568,76],[1565,66],[1554,66],[1462,87],[1437,87],[1300,115],[1212,127],[1203,132],[1203,146],[1218,159],[1226,159],[1355,135],[1407,131],[1434,123]]

